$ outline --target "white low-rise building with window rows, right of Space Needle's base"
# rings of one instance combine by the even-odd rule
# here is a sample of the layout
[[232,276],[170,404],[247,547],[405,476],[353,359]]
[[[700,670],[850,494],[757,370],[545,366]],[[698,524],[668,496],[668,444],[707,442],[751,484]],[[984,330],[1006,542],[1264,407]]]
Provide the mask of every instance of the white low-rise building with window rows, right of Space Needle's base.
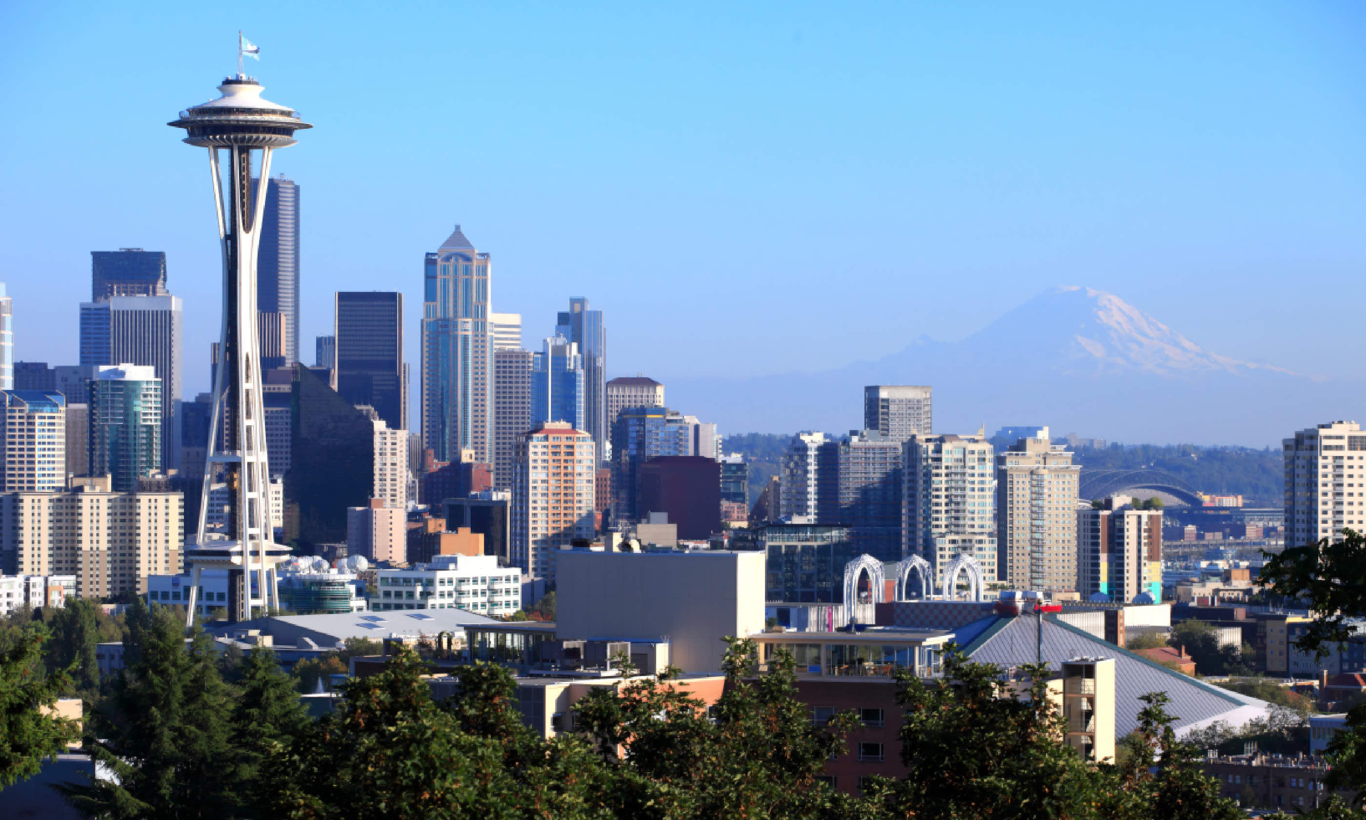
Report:
[[522,607],[522,570],[496,555],[438,555],[408,570],[378,570],[370,610],[466,610],[511,615]]

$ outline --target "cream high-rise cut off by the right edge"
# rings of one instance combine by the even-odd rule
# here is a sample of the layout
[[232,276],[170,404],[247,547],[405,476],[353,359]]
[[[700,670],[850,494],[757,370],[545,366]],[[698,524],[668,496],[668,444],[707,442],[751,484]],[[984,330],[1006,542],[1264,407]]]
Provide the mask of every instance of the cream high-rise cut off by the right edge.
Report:
[[1344,526],[1366,530],[1366,500],[1343,499],[1344,480],[1366,478],[1366,430],[1355,421],[1332,421],[1299,430],[1283,444],[1285,545],[1341,541]]

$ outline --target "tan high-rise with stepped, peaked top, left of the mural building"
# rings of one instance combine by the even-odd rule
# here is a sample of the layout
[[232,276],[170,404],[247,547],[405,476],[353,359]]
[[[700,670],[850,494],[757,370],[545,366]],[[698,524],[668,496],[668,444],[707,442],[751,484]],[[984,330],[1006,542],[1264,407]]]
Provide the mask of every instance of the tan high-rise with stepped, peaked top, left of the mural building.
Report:
[[1048,428],[996,454],[996,567],[1014,589],[1076,589],[1081,470]]

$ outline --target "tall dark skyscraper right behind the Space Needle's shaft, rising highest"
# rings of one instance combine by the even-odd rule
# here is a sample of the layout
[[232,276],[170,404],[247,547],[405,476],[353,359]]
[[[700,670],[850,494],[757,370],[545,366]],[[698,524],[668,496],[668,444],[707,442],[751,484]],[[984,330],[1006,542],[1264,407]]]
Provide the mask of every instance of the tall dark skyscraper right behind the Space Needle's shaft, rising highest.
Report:
[[299,361],[299,186],[284,174],[266,182],[257,310],[280,314],[280,347],[292,365]]

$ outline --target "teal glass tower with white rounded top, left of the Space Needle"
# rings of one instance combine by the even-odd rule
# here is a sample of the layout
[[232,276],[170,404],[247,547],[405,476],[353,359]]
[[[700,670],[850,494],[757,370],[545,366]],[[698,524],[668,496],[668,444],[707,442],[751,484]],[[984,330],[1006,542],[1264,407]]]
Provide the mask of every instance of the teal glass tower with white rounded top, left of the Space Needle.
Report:
[[150,365],[102,365],[90,383],[90,473],[137,492],[161,469],[161,380]]

